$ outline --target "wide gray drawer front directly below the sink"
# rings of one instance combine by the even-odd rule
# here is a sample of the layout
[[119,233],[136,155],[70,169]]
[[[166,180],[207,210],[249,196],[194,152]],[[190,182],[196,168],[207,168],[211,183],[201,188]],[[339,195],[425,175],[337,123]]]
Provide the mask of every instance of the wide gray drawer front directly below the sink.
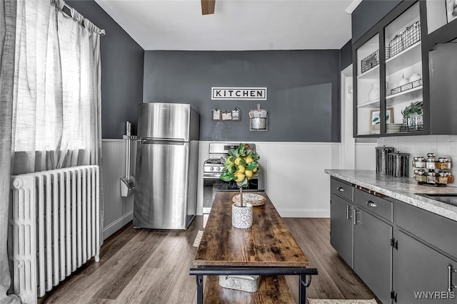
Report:
[[395,204],[395,221],[398,227],[457,257],[457,221],[401,201]]

